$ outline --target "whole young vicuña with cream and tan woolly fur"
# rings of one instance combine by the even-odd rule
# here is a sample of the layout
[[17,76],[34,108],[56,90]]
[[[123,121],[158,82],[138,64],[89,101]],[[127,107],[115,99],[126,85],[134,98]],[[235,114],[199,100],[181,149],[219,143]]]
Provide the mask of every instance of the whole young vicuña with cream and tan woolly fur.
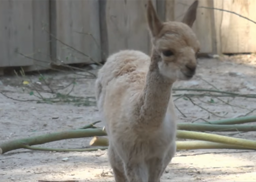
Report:
[[171,88],[195,74],[199,42],[191,27],[198,2],[182,22],[161,22],[152,2],[147,20],[152,54],[123,50],[99,70],[96,99],[109,137],[116,182],[159,182],[176,151]]

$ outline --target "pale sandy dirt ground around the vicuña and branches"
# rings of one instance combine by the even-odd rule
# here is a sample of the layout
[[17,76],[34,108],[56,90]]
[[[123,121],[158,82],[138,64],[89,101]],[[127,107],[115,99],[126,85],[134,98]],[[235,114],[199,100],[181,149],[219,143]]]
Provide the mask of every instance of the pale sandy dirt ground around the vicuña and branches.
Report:
[[[90,70],[97,72],[93,66]],[[68,85],[74,73],[49,72],[43,75],[52,80],[52,87]],[[256,92],[256,56],[243,55],[222,57],[221,59],[201,58],[198,60],[196,77],[190,81],[176,82],[175,88],[204,88],[244,94]],[[37,82],[39,75],[29,75],[28,82]],[[25,78],[16,76],[0,77],[0,90],[8,97],[19,100],[38,99],[31,94],[28,85],[23,85]],[[94,79],[78,78],[71,95],[87,98],[90,102],[74,103],[37,103],[21,102],[0,94],[0,143],[40,134],[77,129],[93,121],[98,121],[99,113],[95,106]],[[41,82],[40,82],[41,83]],[[40,83],[35,83],[40,85]],[[42,84],[43,85],[43,84]],[[47,89],[44,86],[44,89]],[[68,88],[71,89],[70,87]],[[30,93],[30,94],[29,94]],[[174,94],[188,93],[176,91]],[[190,92],[189,92],[190,93]],[[41,93],[43,97],[50,94]],[[93,100],[94,98],[94,100]],[[174,97],[176,98],[176,97]],[[256,108],[255,99],[201,97],[192,98],[195,103],[209,110],[194,106],[189,100],[178,99],[176,110],[178,122],[192,122],[196,119],[207,121],[222,118],[239,117]],[[83,100],[83,99],[81,99]],[[87,100],[87,101],[88,101]],[[211,102],[208,102],[211,101]],[[89,103],[89,104],[88,104]],[[235,107],[239,105],[240,107]],[[251,112],[249,115],[255,114]],[[217,116],[214,116],[217,115]],[[221,116],[221,117],[218,117]],[[196,121],[196,122],[200,122]],[[98,126],[102,126],[99,123]],[[254,139],[255,132],[235,133],[233,137]],[[218,133],[230,136],[230,133]],[[91,138],[68,139],[41,145],[48,148],[86,148]],[[172,162],[162,176],[163,182],[227,182],[256,181],[255,151],[242,150],[187,150],[177,151]],[[0,155],[0,182],[36,182],[38,180],[77,180],[114,181],[112,170],[107,160],[107,150],[92,152],[49,152],[19,149]]]

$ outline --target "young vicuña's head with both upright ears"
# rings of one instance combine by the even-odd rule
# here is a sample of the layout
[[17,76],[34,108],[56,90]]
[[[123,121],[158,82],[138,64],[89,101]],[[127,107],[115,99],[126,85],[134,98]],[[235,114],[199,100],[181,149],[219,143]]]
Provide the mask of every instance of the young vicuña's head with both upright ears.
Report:
[[161,22],[151,0],[147,6],[153,56],[158,56],[161,75],[171,80],[189,80],[195,75],[196,54],[200,44],[191,27],[196,18],[198,1],[187,10],[182,22]]

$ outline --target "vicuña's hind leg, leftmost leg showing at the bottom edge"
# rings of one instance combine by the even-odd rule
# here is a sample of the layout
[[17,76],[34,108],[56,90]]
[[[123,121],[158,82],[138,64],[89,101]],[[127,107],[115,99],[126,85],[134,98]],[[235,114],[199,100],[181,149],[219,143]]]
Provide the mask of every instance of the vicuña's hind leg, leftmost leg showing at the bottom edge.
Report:
[[125,172],[123,169],[123,162],[119,158],[118,154],[114,151],[114,148],[112,147],[111,144],[109,144],[109,148],[107,152],[108,152],[109,162],[114,173],[115,181],[127,182],[127,179],[125,177]]

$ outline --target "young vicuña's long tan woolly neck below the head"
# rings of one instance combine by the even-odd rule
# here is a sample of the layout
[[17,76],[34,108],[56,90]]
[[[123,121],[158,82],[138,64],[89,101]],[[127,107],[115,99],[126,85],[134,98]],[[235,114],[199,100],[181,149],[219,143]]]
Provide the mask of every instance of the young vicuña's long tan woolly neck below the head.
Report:
[[159,127],[165,117],[173,81],[159,73],[160,56],[153,50],[144,90],[139,100],[140,120],[152,129]]

